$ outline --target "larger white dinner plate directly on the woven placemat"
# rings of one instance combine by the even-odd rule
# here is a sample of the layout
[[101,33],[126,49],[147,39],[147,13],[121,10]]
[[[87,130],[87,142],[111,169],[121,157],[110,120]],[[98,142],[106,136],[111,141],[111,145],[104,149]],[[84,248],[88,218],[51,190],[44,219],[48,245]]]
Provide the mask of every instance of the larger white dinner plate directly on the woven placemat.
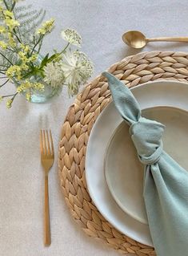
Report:
[[[174,81],[156,81],[133,87],[131,90],[141,109],[171,106],[188,110],[188,84]],[[110,103],[98,116],[90,132],[86,149],[86,182],[90,197],[98,210],[122,234],[138,242],[153,246],[146,224],[125,213],[114,201],[106,184],[103,161],[107,144],[122,117]]]

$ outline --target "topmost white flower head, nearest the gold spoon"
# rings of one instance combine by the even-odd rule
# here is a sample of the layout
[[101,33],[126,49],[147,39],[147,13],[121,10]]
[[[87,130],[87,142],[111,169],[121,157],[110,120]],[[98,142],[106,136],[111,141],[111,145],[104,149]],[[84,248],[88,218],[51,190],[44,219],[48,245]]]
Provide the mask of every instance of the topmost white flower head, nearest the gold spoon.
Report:
[[70,28],[62,30],[62,39],[77,47],[80,47],[82,43],[82,38],[78,32],[76,30],[71,30]]

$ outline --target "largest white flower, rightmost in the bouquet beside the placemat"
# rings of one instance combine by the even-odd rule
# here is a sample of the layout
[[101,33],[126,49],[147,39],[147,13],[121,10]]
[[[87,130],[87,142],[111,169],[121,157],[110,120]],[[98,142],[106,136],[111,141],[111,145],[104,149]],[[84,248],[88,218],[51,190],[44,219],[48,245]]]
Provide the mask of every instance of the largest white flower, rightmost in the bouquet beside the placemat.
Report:
[[61,67],[70,95],[78,93],[79,85],[86,83],[94,69],[93,63],[82,51],[67,51],[63,56]]

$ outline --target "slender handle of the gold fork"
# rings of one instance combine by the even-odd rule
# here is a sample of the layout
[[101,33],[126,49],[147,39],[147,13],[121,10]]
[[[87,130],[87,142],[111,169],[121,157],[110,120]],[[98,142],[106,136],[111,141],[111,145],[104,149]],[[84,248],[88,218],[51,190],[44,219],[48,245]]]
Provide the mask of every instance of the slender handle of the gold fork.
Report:
[[44,212],[44,244],[50,246],[50,207],[49,207],[49,193],[48,193],[48,175],[45,175],[45,212]]

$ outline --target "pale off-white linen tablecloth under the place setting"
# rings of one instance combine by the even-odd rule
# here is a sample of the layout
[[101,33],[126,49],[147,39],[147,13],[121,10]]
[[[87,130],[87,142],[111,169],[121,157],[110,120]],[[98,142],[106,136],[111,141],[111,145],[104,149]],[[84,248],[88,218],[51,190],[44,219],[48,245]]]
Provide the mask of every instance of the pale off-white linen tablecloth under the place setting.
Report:
[[[29,0],[26,2],[30,3]],[[182,0],[34,0],[34,7],[56,19],[42,51],[61,49],[60,31],[73,27],[82,35],[82,51],[94,62],[94,75],[128,55],[138,53],[122,43],[127,30],[148,37],[187,35],[188,2]],[[186,43],[150,43],[142,51],[187,51]],[[58,142],[66,112],[74,102],[66,89],[52,104],[26,103],[21,96],[13,108],[0,105],[0,255],[71,256],[118,253],[89,238],[70,217],[58,181]],[[50,171],[52,244],[43,246],[43,185],[39,130],[51,128],[55,164]]]

